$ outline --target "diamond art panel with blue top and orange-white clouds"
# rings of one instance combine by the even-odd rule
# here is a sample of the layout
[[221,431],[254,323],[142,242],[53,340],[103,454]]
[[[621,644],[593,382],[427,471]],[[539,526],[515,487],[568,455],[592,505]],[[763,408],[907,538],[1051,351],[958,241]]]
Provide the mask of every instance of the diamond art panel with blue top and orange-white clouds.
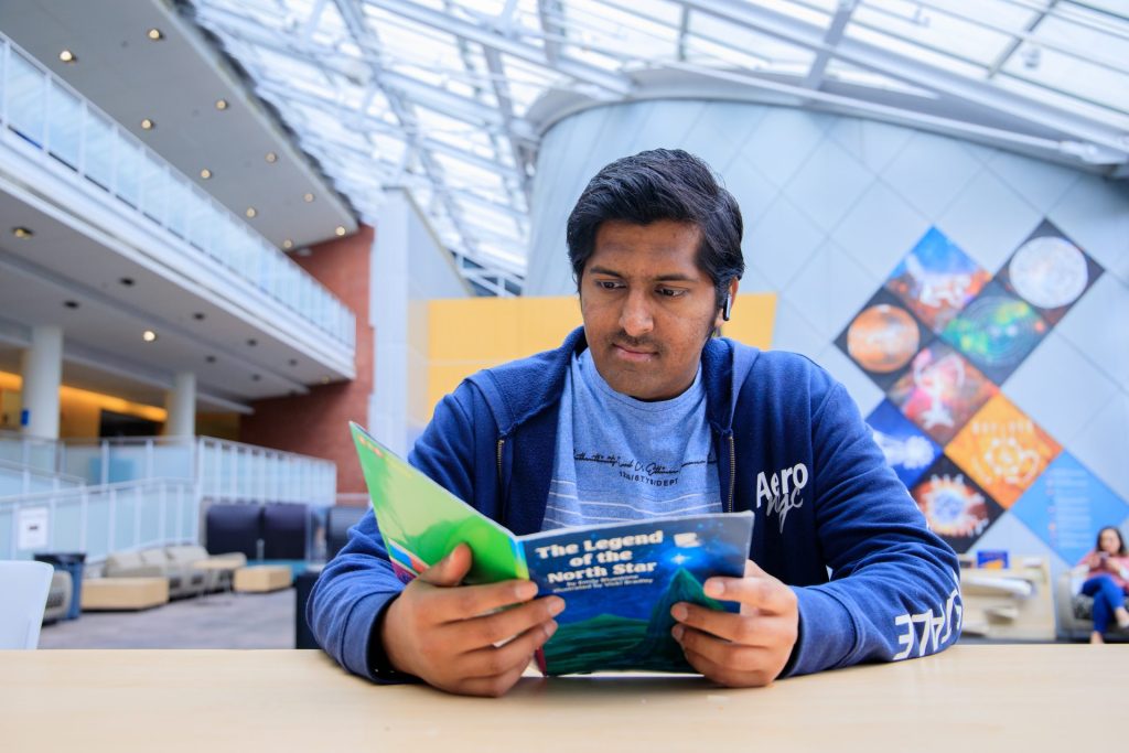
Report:
[[937,228],[929,230],[894,268],[886,289],[934,332],[945,329],[991,274]]

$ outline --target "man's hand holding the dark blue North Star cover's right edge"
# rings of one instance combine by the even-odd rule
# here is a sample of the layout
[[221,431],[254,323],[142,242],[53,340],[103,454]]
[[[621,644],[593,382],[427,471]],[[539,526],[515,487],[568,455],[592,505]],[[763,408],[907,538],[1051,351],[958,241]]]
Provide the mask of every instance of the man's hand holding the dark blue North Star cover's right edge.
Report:
[[738,613],[679,602],[671,631],[686,660],[721,685],[768,685],[788,663],[799,633],[799,607],[788,586],[745,563],[744,578],[710,578],[706,595],[741,604]]

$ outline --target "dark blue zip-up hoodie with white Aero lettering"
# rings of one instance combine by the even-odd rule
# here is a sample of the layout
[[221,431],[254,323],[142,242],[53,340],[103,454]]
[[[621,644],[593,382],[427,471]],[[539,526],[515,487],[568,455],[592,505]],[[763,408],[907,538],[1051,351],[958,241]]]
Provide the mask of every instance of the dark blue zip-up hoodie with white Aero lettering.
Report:
[[[436,406],[409,461],[516,534],[541,531],[578,329],[557,350],[480,371]],[[802,356],[730,340],[702,351],[726,511],[754,510],[750,559],[793,587],[799,639],[784,675],[933,654],[956,641],[956,555],[930,533],[843,386]],[[375,634],[403,585],[371,510],[310,595],[318,642],[382,680]]]

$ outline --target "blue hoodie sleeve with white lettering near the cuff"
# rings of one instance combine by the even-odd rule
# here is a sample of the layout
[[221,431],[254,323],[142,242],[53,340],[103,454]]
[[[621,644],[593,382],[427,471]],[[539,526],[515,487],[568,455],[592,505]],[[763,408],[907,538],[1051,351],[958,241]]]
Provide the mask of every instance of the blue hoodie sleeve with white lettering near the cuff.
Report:
[[961,631],[956,554],[928,529],[842,385],[825,395],[812,441],[831,580],[795,588],[800,636],[788,675],[926,656]]

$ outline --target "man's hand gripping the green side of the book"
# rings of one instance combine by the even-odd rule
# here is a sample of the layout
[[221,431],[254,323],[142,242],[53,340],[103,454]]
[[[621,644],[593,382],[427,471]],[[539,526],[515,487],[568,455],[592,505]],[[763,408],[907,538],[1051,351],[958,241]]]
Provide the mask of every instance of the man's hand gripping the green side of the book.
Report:
[[[531,601],[537,587],[528,580],[460,586],[470,569],[471,550],[460,544],[408,584],[384,615],[380,641],[399,672],[452,693],[502,695],[557,630],[564,599]],[[519,606],[501,610],[511,605]]]

